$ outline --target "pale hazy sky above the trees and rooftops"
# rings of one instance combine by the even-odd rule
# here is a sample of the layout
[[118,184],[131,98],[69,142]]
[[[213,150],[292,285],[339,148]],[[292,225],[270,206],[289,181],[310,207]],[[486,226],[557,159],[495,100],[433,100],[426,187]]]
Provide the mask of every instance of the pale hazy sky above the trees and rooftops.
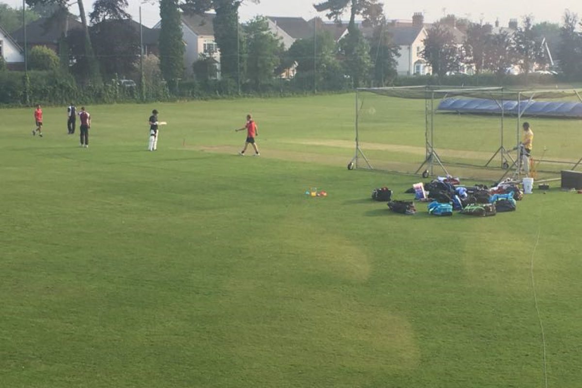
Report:
[[[254,4],[252,0],[245,0],[240,8],[240,19],[249,20],[256,15],[265,16],[299,16],[311,19],[317,13],[313,3],[319,0],[261,0]],[[128,0],[129,13],[135,20],[139,20],[140,0]],[[468,17],[478,22],[494,23],[496,19],[502,26],[506,26],[509,19],[521,19],[524,15],[532,15],[534,22],[560,23],[565,9],[582,16],[582,1],[580,0],[407,0],[388,1],[380,0],[386,5],[384,11],[388,19],[411,19],[414,12],[422,12],[426,22],[434,22],[443,15],[453,13],[459,17]],[[0,0],[12,7],[22,6],[22,0]],[[87,12],[93,8],[92,0],[85,0]],[[76,8],[74,6],[73,8]],[[152,27],[159,21],[159,6],[155,0],[145,0],[141,5],[142,21],[145,26]],[[76,10],[76,9],[75,9]],[[77,12],[73,12],[77,13]],[[324,14],[320,15],[324,17]]]

